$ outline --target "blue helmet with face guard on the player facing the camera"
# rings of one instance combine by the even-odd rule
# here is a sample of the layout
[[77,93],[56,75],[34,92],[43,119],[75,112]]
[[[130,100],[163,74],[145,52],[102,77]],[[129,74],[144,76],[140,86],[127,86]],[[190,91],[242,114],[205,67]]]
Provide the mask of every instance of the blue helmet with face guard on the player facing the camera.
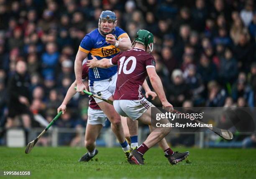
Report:
[[[112,27],[112,30],[110,32],[104,32],[103,31],[103,27],[101,26],[101,22],[103,20],[107,20],[108,22],[110,22],[110,21],[113,22],[113,27]],[[117,18],[115,16],[115,12],[112,12],[110,10],[105,10],[105,11],[102,11],[101,14],[100,14],[98,29],[99,29],[99,31],[102,35],[106,36],[108,34],[111,34],[115,30],[116,23],[117,23]]]

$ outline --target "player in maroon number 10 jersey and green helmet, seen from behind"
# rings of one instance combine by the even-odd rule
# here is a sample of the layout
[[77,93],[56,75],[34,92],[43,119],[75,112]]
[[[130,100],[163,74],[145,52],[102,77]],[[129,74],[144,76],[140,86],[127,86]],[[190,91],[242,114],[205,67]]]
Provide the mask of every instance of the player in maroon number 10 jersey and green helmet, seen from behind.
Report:
[[[121,52],[112,59],[97,60],[95,57],[87,62],[87,66],[107,68],[118,65],[118,79],[114,94],[114,108],[121,115],[139,120],[148,124],[151,130],[143,144],[138,149],[131,152],[131,159],[135,164],[144,164],[143,155],[145,152],[159,142],[159,145],[166,153],[166,157],[171,164],[177,164],[184,160],[189,152],[173,152],[168,146],[164,137],[170,132],[171,127],[160,127],[157,129],[151,126],[151,106],[141,94],[141,86],[147,76],[156,91],[163,108],[166,111],[173,112],[170,104],[164,94],[163,85],[159,76],[156,74],[156,61],[154,57],[146,50],[153,50],[154,36],[147,30],[139,30],[134,40],[134,47],[131,50]],[[160,111],[159,111],[160,112]],[[162,124],[167,124],[168,119],[161,119]],[[159,132],[160,131],[160,132]]]

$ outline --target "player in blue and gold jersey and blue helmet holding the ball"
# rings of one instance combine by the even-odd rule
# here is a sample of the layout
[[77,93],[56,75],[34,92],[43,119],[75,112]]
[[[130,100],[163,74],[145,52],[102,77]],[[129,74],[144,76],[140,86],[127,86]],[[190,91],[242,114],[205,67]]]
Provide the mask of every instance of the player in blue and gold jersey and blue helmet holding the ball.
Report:
[[[130,38],[120,27],[116,27],[116,23],[117,18],[114,12],[110,10],[102,11],[99,17],[98,28],[85,35],[83,38],[74,64],[77,92],[84,94],[83,90],[87,90],[81,78],[82,62],[84,59],[88,58],[91,60],[92,55],[95,56],[97,60],[102,58],[110,59],[118,55],[120,51],[131,49]],[[88,76],[90,92],[105,99],[113,100],[117,80],[116,66],[108,69],[92,68],[89,70]],[[128,157],[130,146],[125,140],[120,115],[115,112],[112,105],[102,102],[102,100],[97,98],[95,98],[95,101],[110,120],[112,130]]]

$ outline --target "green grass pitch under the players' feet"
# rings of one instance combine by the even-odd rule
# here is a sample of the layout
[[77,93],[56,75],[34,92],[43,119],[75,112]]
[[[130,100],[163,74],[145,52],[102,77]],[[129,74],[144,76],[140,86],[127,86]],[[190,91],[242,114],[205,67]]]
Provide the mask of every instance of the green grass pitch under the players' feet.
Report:
[[[0,147],[0,178],[33,179],[249,179],[256,178],[255,149],[195,149],[190,151],[191,163],[172,166],[161,149],[155,147],[145,154],[145,165],[126,162],[120,148],[98,148],[99,154],[90,162],[77,162],[84,148],[34,147],[30,154],[25,148]],[[96,160],[95,160],[96,159]],[[31,176],[3,176],[3,171],[30,171]]]

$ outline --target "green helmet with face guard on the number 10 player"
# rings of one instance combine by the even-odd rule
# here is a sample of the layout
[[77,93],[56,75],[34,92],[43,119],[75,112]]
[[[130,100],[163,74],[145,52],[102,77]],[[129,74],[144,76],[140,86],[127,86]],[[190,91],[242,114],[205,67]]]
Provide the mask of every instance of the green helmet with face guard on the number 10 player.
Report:
[[135,40],[133,41],[132,45],[135,45],[135,42],[141,43],[146,47],[149,47],[149,52],[153,51],[154,48],[154,35],[147,31],[147,30],[138,30]]

